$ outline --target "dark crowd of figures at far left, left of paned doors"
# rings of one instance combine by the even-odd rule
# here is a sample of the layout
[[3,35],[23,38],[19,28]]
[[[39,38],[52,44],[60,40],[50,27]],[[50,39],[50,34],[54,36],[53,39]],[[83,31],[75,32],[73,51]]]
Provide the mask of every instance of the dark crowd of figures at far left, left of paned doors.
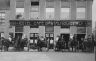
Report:
[[23,50],[24,47],[27,45],[27,38],[13,38],[12,36],[9,36],[8,39],[1,37],[0,38],[0,49],[1,51],[8,51],[8,48],[14,47],[15,50],[20,51]]

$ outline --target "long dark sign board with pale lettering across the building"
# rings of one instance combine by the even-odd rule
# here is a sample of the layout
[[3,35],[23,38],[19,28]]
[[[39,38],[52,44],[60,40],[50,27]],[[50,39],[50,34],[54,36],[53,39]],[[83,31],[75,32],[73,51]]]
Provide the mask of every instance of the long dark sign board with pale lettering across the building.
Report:
[[92,26],[91,20],[10,20],[12,26]]

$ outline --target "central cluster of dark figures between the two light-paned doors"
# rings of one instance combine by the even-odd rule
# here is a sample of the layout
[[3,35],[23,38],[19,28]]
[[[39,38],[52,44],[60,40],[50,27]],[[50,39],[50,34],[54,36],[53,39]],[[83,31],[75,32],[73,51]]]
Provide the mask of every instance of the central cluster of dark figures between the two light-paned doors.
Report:
[[37,38],[37,43],[35,46],[37,47],[38,51],[42,51],[42,48],[46,48],[47,51],[53,47],[53,39],[44,38],[43,36]]

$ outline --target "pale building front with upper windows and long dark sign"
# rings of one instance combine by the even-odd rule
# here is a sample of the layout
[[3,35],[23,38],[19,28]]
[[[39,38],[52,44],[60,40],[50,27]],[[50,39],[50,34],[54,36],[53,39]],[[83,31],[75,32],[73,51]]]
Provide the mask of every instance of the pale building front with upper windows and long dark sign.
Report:
[[[0,3],[2,3],[2,0]],[[92,34],[93,0],[6,0],[0,10],[0,33],[28,39],[37,36],[69,40]],[[3,6],[2,5],[2,6]]]

